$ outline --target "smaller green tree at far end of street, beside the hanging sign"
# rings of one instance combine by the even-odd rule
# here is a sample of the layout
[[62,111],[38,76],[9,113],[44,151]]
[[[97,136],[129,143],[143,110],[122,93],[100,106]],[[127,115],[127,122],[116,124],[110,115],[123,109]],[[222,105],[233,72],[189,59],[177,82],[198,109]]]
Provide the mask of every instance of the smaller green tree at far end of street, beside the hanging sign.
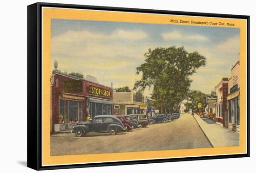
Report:
[[187,103],[185,103],[185,107],[186,107],[185,112],[189,112],[190,110],[192,110],[192,114],[194,115],[194,113],[198,109],[197,107],[198,103],[201,103],[202,109],[204,109],[207,106],[205,96],[206,95],[199,90],[189,91],[187,96]]

